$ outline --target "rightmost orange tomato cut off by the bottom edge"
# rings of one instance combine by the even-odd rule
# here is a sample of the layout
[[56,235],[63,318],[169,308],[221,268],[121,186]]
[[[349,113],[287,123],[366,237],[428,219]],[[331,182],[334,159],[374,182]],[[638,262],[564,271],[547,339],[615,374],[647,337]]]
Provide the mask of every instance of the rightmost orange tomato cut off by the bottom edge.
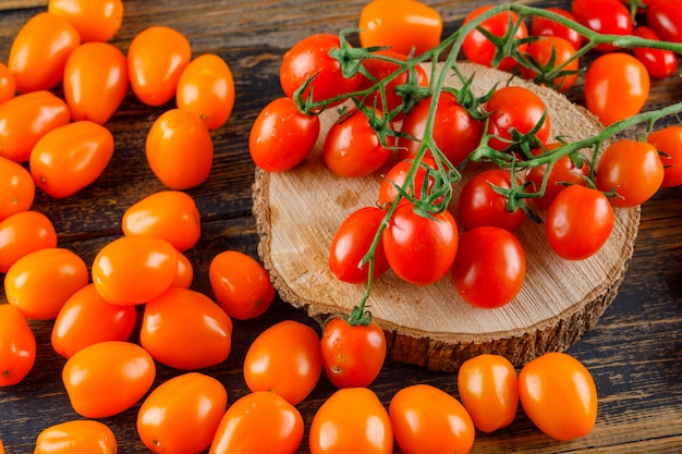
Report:
[[398,391],[389,404],[389,415],[404,454],[466,454],[474,444],[474,424],[464,406],[430,384]]

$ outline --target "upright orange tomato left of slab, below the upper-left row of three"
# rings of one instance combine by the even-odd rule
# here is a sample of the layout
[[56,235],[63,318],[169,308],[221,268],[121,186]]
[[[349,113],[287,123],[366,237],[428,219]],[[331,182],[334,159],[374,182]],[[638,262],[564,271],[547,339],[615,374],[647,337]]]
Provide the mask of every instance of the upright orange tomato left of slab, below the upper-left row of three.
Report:
[[161,113],[147,133],[145,151],[154,174],[171,189],[200,185],[214,165],[210,131],[190,110],[170,109]]

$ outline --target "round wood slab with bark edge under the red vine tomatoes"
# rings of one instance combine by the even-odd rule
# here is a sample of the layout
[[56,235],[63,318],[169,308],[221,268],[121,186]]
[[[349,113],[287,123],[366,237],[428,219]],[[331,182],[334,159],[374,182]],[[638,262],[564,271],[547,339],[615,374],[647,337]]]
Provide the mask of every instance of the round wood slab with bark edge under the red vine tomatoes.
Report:
[[[580,139],[602,127],[585,109],[553,90],[470,63],[460,69],[466,77],[476,73],[473,89],[478,96],[496,83],[532,88],[548,107],[552,137]],[[458,87],[456,82],[452,78],[448,85]],[[254,184],[261,260],[282,299],[319,321],[330,314],[348,314],[363,297],[364,285],[341,282],[329,271],[329,245],[350,212],[376,204],[381,179],[380,174],[344,179],[326,169],[319,152],[336,118],[333,110],[321,115],[320,139],[303,165],[283,173],[257,170]],[[466,174],[453,200],[465,180]],[[453,213],[456,219],[456,210]],[[368,309],[387,333],[389,358],[454,371],[482,353],[500,354],[521,366],[543,353],[570,347],[616,297],[638,222],[638,207],[616,209],[613,232],[601,250],[586,260],[568,261],[549,248],[544,225],[527,221],[515,232],[526,253],[525,283],[515,299],[497,309],[466,304],[449,274],[418,287],[389,270],[375,280],[368,300]]]

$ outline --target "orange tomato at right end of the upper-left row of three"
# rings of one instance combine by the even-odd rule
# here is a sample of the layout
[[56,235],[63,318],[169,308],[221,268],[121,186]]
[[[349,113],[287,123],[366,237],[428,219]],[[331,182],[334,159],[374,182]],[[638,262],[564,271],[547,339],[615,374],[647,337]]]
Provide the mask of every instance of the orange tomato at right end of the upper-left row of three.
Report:
[[234,79],[226,61],[215,53],[192,60],[178,81],[178,108],[196,113],[209,130],[222,126],[234,107]]

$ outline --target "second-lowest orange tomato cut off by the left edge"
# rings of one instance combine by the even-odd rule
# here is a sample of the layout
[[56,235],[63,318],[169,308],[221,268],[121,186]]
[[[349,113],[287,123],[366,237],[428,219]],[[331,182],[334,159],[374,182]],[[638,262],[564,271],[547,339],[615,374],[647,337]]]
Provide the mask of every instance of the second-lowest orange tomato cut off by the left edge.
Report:
[[0,273],[26,254],[57,247],[57,232],[39,211],[21,211],[0,221]]

